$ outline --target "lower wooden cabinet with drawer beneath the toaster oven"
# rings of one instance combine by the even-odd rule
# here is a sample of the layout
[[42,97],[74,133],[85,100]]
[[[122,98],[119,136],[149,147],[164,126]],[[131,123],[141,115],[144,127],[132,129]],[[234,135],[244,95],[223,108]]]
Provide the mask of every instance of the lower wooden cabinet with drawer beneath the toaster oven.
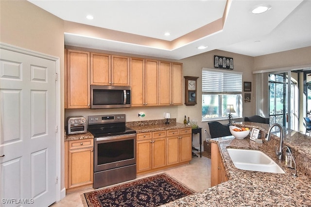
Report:
[[93,185],[93,138],[65,141],[65,188],[72,192]]

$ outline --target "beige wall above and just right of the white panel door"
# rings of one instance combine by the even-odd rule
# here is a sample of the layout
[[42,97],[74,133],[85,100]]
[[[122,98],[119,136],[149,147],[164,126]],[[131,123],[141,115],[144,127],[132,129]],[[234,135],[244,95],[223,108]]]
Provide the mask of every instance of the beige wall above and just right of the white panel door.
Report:
[[[60,58],[61,126],[64,128],[64,28],[63,20],[25,0],[0,0],[0,42]],[[61,143],[64,140],[61,130]],[[61,145],[64,169],[64,144]],[[64,186],[64,170],[62,170]]]

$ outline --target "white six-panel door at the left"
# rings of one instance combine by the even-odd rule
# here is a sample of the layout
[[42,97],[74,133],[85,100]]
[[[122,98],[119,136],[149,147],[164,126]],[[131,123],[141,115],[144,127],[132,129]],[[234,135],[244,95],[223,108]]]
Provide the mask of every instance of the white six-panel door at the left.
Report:
[[55,70],[55,61],[0,50],[0,196],[4,207],[46,207],[56,201]]

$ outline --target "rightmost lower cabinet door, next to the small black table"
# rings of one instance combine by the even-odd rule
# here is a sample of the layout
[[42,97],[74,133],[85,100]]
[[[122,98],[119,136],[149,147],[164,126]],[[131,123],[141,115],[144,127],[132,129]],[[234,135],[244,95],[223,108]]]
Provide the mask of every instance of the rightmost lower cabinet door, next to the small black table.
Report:
[[180,162],[190,161],[192,158],[192,140],[191,134],[180,135],[179,139],[180,147]]

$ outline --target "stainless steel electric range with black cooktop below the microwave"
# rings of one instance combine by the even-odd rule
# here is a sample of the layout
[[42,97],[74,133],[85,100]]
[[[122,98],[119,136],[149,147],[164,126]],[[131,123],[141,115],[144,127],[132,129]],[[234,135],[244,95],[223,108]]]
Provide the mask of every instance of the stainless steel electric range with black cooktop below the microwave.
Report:
[[125,126],[125,114],[88,116],[94,135],[94,183],[101,188],[136,178],[136,131]]

